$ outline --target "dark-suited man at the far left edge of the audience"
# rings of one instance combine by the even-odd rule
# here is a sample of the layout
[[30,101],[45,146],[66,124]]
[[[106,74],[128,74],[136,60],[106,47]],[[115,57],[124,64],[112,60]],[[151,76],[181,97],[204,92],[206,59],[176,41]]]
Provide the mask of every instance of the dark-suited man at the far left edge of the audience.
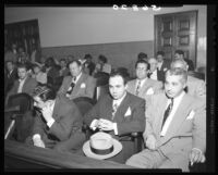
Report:
[[5,70],[7,75],[5,75],[4,92],[7,95],[7,92],[11,90],[11,88],[13,87],[13,84],[19,78],[19,76],[17,76],[17,70],[13,61],[7,61],[5,65],[7,65],[7,70]]

